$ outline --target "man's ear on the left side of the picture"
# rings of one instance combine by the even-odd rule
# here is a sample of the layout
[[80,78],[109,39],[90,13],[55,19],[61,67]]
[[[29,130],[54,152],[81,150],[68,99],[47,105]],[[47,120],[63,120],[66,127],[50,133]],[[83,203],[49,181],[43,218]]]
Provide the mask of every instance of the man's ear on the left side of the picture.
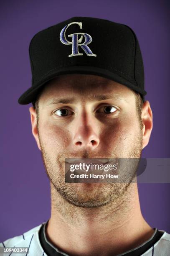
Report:
[[33,107],[30,107],[29,110],[30,110],[30,119],[31,119],[31,125],[32,125],[32,133],[34,138],[36,139],[38,148],[41,150],[40,140],[38,136],[38,127],[37,127],[37,113]]

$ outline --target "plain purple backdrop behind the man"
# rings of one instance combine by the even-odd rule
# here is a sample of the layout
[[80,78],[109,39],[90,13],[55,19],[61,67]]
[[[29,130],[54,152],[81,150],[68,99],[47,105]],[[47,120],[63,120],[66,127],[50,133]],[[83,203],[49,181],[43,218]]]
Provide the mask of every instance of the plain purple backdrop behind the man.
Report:
[[[0,4],[0,241],[18,236],[51,214],[50,185],[31,133],[30,105],[18,97],[30,87],[28,46],[38,31],[74,16],[130,26],[140,42],[146,100],[153,110],[147,158],[170,157],[170,18],[168,1],[10,0]],[[139,184],[142,213],[152,227],[170,233],[170,184]]]

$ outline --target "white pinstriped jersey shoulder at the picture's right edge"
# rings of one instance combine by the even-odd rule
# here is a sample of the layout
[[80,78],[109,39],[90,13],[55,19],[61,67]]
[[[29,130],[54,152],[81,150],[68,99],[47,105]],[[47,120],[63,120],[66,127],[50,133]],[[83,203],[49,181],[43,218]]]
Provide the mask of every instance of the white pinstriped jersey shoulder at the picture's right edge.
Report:
[[169,256],[170,255],[170,234],[166,233],[164,230],[159,230],[162,233],[160,240],[154,244],[148,251],[144,254],[145,256]]

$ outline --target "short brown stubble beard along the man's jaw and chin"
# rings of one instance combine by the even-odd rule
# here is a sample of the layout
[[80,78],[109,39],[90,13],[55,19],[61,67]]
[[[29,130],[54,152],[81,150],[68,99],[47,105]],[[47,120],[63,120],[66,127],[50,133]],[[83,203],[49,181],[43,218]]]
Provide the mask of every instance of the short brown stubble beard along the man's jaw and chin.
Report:
[[[38,132],[39,133],[39,132]],[[52,159],[50,154],[46,151],[39,134],[41,145],[41,155],[43,164],[46,169],[46,174],[51,183],[52,200],[56,205],[69,203],[72,206],[97,208],[109,205],[121,199],[128,190],[132,180],[136,175],[136,170],[133,171],[132,177],[126,183],[107,183],[107,184],[70,184],[65,182],[65,165],[63,165],[64,154],[58,154],[56,159]],[[132,142],[132,148],[126,158],[140,158],[142,152],[142,131],[139,131],[136,140]],[[88,154],[86,154],[87,156]],[[73,157],[65,154],[65,158]],[[82,156],[83,158],[84,156]],[[74,158],[80,158],[74,156]],[[89,157],[89,158],[95,158]],[[99,158],[99,157],[98,157]],[[101,156],[103,158],[103,156]],[[59,198],[60,197],[60,198]],[[58,201],[58,202],[57,202]],[[59,203],[60,202],[60,203]]]

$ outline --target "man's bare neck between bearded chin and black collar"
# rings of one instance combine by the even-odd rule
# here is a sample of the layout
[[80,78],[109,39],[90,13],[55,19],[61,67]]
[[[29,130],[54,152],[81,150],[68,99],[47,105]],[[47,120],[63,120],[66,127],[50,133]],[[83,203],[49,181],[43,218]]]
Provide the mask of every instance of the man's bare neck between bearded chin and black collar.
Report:
[[154,230],[142,217],[137,184],[124,195],[99,208],[74,206],[51,184],[51,218],[46,236],[69,255],[113,255],[139,246]]

